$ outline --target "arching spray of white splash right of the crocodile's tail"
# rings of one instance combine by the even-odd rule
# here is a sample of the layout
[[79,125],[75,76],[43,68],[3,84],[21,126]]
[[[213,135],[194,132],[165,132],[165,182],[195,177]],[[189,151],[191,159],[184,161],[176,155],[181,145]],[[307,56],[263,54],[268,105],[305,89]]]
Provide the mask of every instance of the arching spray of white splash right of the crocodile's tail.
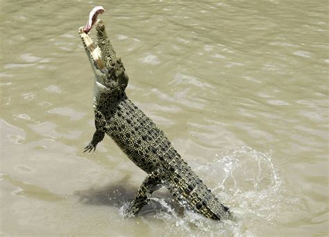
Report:
[[272,156],[271,151],[241,147],[217,156],[213,163],[198,164],[195,170],[238,220],[258,219],[275,226],[280,215],[299,199],[289,191]]

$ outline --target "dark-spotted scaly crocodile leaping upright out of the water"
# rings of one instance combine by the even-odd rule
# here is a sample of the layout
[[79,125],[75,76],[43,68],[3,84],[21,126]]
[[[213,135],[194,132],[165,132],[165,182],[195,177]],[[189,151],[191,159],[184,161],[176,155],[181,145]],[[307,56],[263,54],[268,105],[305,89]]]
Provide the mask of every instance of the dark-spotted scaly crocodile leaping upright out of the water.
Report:
[[165,186],[187,210],[214,220],[233,220],[233,214],[215,197],[169,142],[165,133],[126,95],[128,74],[112,47],[101,19],[94,23],[96,42],[79,28],[83,47],[94,72],[96,131],[84,152],[95,151],[105,134],[148,175],[128,204],[124,217],[132,217],[149,202],[151,194]]

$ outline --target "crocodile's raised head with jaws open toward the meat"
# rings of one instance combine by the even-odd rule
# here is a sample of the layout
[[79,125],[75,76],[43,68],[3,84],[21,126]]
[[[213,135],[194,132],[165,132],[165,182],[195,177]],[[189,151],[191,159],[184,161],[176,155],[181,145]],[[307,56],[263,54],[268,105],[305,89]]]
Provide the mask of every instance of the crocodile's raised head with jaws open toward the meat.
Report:
[[85,27],[79,28],[79,35],[83,47],[95,76],[95,99],[120,99],[128,84],[128,76],[121,59],[117,57],[115,50],[106,34],[105,25],[101,19],[95,24],[96,42],[92,40]]

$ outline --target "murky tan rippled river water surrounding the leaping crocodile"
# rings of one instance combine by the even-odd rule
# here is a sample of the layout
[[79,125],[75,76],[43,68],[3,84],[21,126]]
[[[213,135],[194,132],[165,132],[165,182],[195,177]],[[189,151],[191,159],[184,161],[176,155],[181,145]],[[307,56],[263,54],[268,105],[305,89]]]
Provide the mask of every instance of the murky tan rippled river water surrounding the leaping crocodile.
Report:
[[[328,234],[328,1],[0,4],[2,234]],[[108,137],[82,153],[93,74],[78,27],[96,5],[128,96],[235,222],[165,189],[124,220],[146,174]]]

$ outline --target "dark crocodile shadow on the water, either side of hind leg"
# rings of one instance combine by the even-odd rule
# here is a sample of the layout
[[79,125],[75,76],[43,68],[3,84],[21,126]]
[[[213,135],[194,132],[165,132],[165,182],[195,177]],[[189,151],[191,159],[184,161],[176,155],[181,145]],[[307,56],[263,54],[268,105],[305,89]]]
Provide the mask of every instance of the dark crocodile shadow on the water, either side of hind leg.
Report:
[[[120,181],[110,183],[107,186],[77,190],[74,195],[78,196],[79,201],[83,204],[115,206],[122,210],[126,209],[128,203],[134,199],[137,189],[138,187],[128,183],[128,176],[126,176]],[[164,200],[170,206],[170,209],[158,202],[158,199]],[[149,203],[141,209],[138,215],[155,215],[158,212],[172,211],[175,211],[177,215],[183,215],[183,207],[173,199],[168,190],[161,188],[161,190],[152,194]]]

